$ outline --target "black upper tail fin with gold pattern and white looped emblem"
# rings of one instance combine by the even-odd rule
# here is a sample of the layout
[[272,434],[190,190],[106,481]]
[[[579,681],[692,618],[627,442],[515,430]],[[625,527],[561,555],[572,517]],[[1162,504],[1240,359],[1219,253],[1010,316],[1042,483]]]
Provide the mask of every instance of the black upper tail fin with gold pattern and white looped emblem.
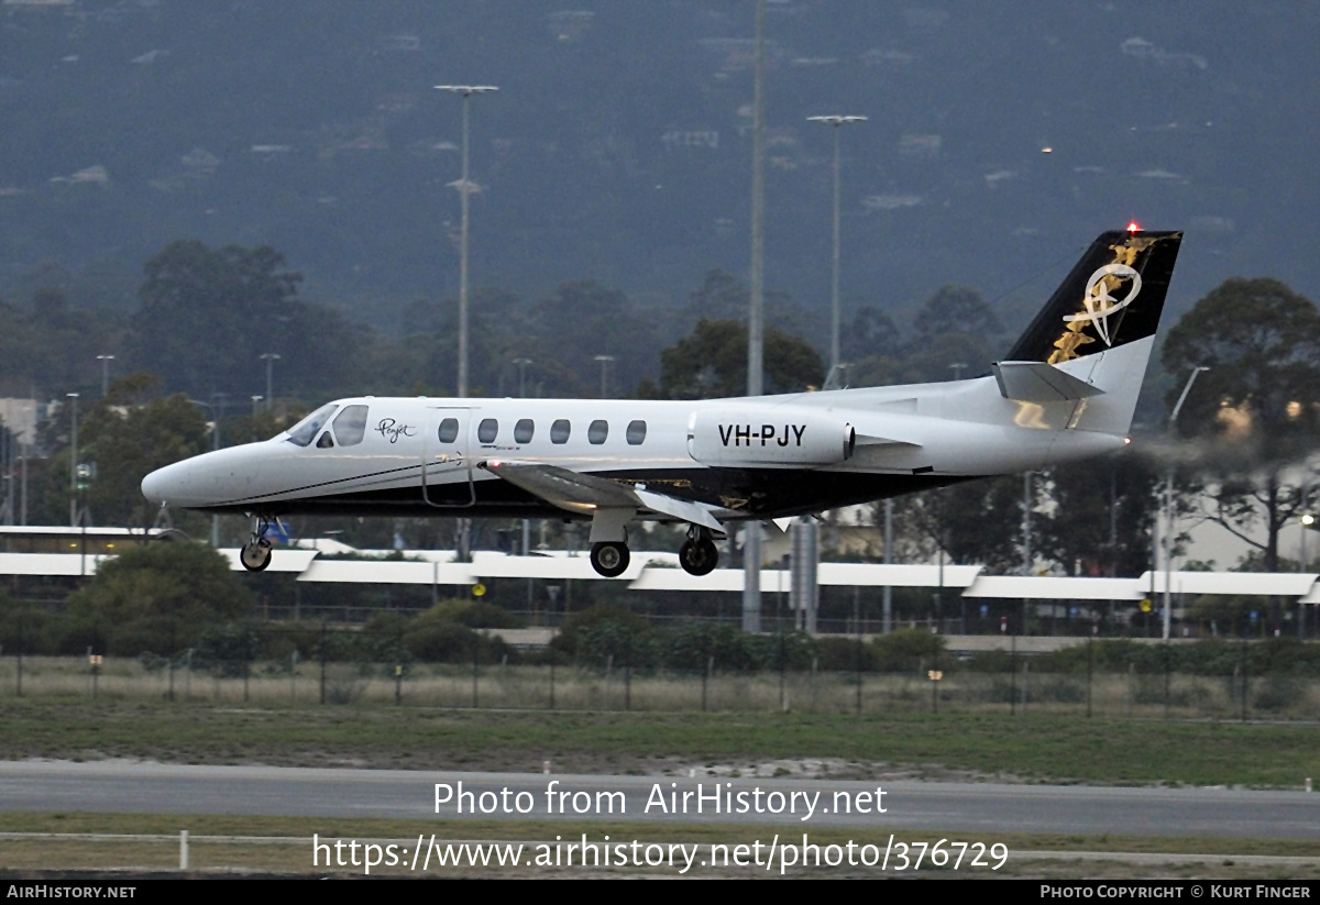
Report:
[[1059,364],[1155,335],[1181,232],[1105,232],[1005,361]]

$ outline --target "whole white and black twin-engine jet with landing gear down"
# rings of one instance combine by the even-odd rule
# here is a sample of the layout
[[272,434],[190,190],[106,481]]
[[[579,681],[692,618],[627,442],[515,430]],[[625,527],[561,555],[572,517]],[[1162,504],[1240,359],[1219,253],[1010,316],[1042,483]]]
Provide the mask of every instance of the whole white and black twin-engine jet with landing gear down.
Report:
[[562,517],[591,565],[628,566],[634,518],[686,522],[682,567],[715,567],[733,521],[817,513],[1122,447],[1181,232],[1106,232],[993,373],[705,401],[383,398],[330,402],[264,443],[153,471],[161,505],[255,520],[271,562],[289,515]]

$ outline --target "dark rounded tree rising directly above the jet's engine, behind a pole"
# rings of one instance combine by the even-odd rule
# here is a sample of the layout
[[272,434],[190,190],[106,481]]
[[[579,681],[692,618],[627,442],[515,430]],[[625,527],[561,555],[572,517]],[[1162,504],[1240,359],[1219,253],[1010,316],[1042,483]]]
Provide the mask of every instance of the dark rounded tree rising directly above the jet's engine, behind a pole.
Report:
[[[809,343],[775,327],[764,334],[766,392],[820,387],[825,368]],[[648,398],[719,398],[747,392],[747,326],[738,321],[697,322],[692,334],[660,352],[660,380],[643,381]]]

